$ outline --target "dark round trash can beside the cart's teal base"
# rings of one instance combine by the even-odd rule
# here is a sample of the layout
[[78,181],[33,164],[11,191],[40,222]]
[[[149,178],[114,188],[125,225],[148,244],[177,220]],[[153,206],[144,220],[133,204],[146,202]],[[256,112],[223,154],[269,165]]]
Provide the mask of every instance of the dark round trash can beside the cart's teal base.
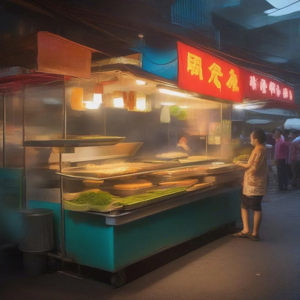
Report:
[[20,210],[22,232],[19,250],[28,275],[37,276],[46,271],[47,251],[54,248],[52,210],[46,208]]

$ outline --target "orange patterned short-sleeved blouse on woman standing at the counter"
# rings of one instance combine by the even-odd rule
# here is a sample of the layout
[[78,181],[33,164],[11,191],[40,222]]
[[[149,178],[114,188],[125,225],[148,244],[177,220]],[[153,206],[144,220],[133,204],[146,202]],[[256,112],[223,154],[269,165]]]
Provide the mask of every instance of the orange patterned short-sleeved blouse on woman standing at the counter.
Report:
[[268,152],[265,145],[259,144],[252,151],[245,171],[243,194],[246,196],[265,196],[268,174]]

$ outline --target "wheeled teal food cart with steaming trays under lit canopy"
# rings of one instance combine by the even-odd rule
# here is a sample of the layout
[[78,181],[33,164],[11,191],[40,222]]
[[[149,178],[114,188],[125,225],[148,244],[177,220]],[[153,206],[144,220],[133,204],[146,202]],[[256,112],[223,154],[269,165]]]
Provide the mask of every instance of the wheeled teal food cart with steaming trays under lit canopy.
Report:
[[53,210],[50,256],[112,272],[121,286],[126,266],[235,226],[243,173],[226,160],[229,104],[120,64],[60,88],[60,119],[44,140],[24,141],[26,207]]

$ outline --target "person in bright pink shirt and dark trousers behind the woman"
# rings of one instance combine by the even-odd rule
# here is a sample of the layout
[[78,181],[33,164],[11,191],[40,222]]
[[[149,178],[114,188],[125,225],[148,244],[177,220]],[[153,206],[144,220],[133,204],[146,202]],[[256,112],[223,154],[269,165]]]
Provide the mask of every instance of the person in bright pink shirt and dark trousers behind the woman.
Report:
[[286,160],[289,155],[289,144],[281,135],[281,130],[277,129],[275,132],[275,161],[277,166],[277,182],[280,191],[287,190],[289,178],[287,174]]

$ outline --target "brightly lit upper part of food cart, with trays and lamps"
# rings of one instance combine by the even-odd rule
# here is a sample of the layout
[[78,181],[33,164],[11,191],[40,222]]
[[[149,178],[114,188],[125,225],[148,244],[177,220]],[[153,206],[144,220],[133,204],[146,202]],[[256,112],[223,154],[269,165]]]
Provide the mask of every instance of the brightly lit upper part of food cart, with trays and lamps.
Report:
[[[35,140],[26,135],[27,199],[116,214],[239,182],[238,167],[227,161],[229,104],[120,70],[91,77],[65,83],[65,104],[54,101],[58,125],[46,130],[52,139],[40,127]],[[60,99],[63,89],[51,91]],[[102,198],[108,204],[95,205]]]

